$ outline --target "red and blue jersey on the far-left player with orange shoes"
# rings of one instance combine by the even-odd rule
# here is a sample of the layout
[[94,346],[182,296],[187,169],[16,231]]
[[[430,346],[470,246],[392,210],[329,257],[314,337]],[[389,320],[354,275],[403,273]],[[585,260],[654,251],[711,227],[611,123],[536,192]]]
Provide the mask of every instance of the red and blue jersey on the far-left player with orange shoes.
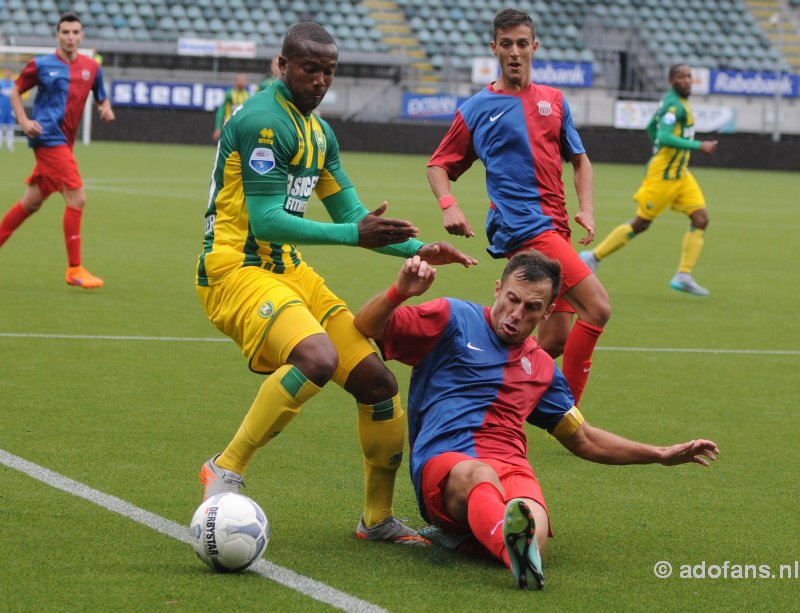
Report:
[[29,138],[31,147],[72,147],[89,92],[96,102],[106,99],[103,71],[93,59],[78,54],[67,62],[58,53],[33,58],[17,78],[17,90],[37,87],[31,119],[39,122],[41,136]]

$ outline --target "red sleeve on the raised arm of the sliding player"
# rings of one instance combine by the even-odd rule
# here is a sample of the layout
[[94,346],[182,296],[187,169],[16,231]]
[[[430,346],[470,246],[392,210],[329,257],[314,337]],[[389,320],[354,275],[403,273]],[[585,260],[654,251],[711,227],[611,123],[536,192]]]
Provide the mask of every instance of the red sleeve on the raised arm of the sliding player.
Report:
[[450,323],[450,303],[438,298],[394,310],[378,346],[386,360],[416,366],[433,350]]

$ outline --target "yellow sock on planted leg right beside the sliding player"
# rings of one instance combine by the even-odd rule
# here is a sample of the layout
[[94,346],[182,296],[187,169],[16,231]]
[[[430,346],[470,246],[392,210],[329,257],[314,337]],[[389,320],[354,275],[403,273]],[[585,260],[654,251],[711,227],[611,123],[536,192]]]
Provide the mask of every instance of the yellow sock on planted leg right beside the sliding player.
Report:
[[394,479],[403,460],[405,412],[400,395],[377,404],[358,403],[358,439],[364,453],[364,524],[390,517]]

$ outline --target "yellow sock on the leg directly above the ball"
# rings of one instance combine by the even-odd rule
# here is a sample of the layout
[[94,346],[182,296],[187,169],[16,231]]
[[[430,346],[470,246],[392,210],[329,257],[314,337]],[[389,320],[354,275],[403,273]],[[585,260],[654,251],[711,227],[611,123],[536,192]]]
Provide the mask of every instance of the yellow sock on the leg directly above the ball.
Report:
[[320,389],[294,366],[281,366],[261,384],[239,430],[216,459],[217,466],[243,475],[256,449],[280,434],[300,405]]

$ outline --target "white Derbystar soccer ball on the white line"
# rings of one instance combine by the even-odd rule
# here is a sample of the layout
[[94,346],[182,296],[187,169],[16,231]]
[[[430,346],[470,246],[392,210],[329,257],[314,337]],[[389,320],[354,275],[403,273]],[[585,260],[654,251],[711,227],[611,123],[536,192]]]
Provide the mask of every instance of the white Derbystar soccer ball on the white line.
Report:
[[269,543],[264,511],[247,496],[226,492],[197,507],[190,526],[197,557],[221,573],[235,573],[254,564]]

